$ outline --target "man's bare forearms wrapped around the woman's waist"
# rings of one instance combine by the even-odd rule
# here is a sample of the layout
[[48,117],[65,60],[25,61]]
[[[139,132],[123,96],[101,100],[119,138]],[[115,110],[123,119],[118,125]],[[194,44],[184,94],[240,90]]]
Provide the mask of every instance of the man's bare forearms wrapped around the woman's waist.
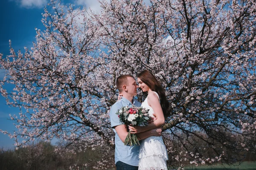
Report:
[[[128,131],[125,125],[118,125],[115,127],[116,133],[118,134],[119,138],[122,140],[122,142],[125,142],[125,138],[128,135]],[[138,140],[145,139],[149,136],[161,136],[162,129],[156,128],[152,130],[148,130],[142,133],[137,133],[136,136]]]

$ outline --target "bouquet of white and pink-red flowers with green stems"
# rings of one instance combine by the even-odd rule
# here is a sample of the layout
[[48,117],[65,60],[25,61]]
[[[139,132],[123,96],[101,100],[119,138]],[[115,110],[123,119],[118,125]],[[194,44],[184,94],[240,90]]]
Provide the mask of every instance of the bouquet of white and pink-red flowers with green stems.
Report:
[[[150,119],[150,116],[148,116],[148,110],[142,107],[128,107],[124,106],[120,108],[116,114],[119,117],[120,122],[124,123],[125,125],[147,125],[148,120]],[[125,138],[125,145],[129,144],[131,145],[140,145],[139,140],[137,139],[137,136],[131,131],[129,131],[128,135]]]

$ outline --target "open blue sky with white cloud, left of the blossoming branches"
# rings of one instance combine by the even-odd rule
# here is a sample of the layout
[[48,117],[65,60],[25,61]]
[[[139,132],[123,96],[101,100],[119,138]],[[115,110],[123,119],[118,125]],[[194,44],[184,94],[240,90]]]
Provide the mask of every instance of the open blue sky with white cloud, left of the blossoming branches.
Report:
[[[96,0],[62,0],[61,3],[74,3],[76,7],[85,6],[93,11],[99,10]],[[35,28],[44,29],[41,23],[44,6],[49,0],[1,0],[0,1],[0,53],[9,55],[9,40],[15,51],[24,51],[24,46],[32,47],[35,41]],[[4,71],[0,70],[0,79],[3,79]],[[6,87],[7,90],[12,87]],[[9,107],[3,96],[0,95],[0,129],[12,132],[15,130],[13,122],[9,120],[9,114],[18,115],[19,109]],[[0,147],[14,148],[13,139],[0,133]]]

